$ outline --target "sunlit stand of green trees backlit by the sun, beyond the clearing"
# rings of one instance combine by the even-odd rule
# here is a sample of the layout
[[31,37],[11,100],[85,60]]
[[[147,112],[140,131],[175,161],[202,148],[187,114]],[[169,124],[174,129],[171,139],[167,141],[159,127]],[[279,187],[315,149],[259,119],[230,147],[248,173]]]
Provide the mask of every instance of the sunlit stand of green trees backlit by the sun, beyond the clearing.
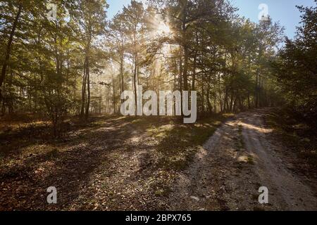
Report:
[[141,84],[197,91],[201,115],[280,105],[282,96],[316,115],[316,9],[300,8],[304,25],[276,60],[283,29],[271,19],[251,23],[228,1],[150,2],[107,20],[105,0],[54,1],[48,20],[49,1],[1,1],[1,114],[46,115],[57,135],[65,115],[117,113],[120,94]]

